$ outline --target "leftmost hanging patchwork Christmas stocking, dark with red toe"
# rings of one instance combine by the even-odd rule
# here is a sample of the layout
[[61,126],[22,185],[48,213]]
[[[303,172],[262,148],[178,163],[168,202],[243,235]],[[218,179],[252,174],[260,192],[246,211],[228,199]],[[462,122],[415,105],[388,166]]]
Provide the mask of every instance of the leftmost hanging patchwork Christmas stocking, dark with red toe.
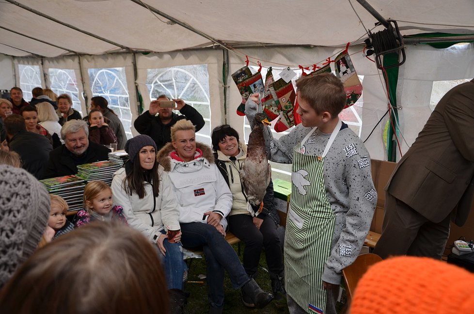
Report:
[[237,84],[238,91],[242,96],[242,102],[237,108],[237,114],[240,116],[245,115],[245,102],[249,98],[250,94],[260,93],[260,99],[263,95],[263,79],[260,72],[252,75],[252,71],[248,66],[244,66],[238,69],[232,74],[234,82]]

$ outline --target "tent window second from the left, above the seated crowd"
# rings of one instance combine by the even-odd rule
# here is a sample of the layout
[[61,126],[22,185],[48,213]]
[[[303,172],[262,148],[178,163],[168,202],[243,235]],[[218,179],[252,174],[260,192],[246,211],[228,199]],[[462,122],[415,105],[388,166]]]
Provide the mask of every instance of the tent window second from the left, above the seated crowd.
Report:
[[68,94],[72,99],[72,108],[78,110],[82,116],[80,107],[79,89],[76,80],[76,73],[69,69],[48,69],[51,90],[58,94]]

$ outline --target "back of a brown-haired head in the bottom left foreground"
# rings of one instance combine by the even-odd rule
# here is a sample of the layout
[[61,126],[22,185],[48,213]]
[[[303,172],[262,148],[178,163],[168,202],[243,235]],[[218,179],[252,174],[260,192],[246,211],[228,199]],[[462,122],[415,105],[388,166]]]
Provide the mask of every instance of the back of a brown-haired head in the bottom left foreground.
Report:
[[2,290],[1,312],[167,314],[158,263],[137,231],[93,222],[37,250]]

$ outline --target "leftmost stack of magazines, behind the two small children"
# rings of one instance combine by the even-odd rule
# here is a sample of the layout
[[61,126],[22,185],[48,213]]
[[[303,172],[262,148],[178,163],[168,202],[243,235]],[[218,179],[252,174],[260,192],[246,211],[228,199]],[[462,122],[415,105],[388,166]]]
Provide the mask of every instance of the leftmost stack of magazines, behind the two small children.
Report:
[[84,195],[85,182],[76,175],[40,180],[50,194],[61,196],[69,206],[69,212],[83,208],[82,196]]

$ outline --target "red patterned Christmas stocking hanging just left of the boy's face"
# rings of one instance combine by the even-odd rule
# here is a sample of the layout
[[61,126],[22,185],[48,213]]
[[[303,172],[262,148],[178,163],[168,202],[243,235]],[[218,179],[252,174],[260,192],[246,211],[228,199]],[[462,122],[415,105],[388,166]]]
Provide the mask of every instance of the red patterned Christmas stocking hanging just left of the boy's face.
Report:
[[293,110],[296,93],[291,81],[286,83],[283,78],[273,83],[273,87],[279,102],[278,109],[281,111],[280,120],[275,124],[275,131],[282,132],[295,125]]

